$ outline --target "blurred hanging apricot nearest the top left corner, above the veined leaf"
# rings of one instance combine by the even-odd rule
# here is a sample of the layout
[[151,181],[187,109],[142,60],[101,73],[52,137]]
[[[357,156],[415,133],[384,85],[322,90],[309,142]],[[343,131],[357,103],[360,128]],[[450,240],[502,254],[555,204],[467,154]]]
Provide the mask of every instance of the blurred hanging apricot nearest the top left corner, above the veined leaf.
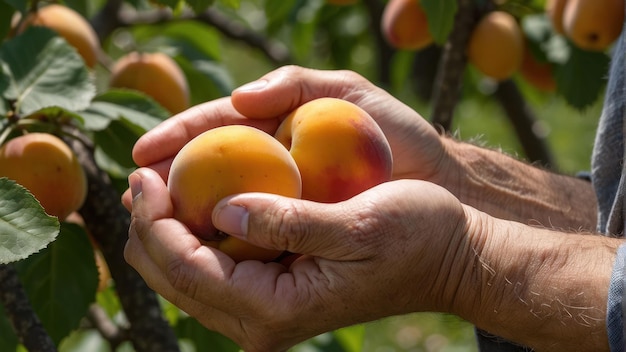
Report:
[[56,31],[76,48],[88,67],[94,68],[98,63],[100,52],[98,35],[91,24],[73,9],[59,4],[44,6],[37,12],[30,13],[17,33],[25,31],[29,26],[42,26]]

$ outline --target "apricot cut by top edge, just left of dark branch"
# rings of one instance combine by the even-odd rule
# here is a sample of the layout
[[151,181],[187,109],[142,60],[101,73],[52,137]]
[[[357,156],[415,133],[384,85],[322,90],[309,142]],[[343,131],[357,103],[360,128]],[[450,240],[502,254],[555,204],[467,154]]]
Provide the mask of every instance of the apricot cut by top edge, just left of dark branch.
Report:
[[433,42],[420,0],[390,0],[383,10],[381,29],[396,49],[420,50]]

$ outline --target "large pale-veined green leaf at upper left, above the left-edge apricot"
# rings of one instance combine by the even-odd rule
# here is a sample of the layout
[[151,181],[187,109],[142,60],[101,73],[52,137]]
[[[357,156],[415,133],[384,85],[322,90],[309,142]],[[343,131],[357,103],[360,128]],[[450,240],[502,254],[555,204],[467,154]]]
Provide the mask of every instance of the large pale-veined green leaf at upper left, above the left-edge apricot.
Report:
[[3,96],[15,100],[21,114],[49,106],[84,109],[95,95],[76,50],[44,27],[29,27],[0,47],[0,66]]

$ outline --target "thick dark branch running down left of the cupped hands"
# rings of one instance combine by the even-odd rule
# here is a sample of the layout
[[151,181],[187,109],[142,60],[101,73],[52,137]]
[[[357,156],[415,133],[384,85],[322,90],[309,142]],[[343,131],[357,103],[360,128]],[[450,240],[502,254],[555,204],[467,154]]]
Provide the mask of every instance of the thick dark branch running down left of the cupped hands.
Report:
[[97,166],[92,151],[77,140],[70,141],[70,145],[87,173],[89,185],[79,212],[109,266],[135,350],[178,351],[176,335],[163,318],[157,295],[124,259],[130,214],[109,176]]

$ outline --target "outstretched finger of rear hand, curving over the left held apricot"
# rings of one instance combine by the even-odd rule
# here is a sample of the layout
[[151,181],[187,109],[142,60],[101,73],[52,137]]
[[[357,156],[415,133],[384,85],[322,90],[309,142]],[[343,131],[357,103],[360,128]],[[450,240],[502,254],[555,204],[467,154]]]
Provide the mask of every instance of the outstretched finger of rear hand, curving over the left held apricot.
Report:
[[230,98],[199,104],[175,115],[144,134],[133,147],[133,160],[148,166],[172,158],[193,137],[211,128],[244,124],[273,132],[274,121],[250,120],[237,112]]

